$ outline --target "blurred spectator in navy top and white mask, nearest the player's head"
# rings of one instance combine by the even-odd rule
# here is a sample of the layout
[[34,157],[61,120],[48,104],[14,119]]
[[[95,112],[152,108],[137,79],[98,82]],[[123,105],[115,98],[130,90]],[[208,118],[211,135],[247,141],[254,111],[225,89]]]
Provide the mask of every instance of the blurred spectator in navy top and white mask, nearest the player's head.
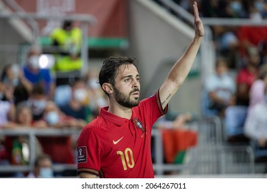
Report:
[[67,104],[60,106],[65,115],[86,122],[92,120],[92,112],[88,106],[88,92],[86,84],[82,80],[76,80],[71,85],[71,99]]

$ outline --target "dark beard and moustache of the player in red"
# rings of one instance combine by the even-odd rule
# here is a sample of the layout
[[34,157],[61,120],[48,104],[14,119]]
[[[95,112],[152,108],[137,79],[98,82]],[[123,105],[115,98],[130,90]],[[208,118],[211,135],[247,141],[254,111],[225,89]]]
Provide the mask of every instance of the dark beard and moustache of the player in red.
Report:
[[[115,99],[118,102],[118,104],[120,104],[121,106],[127,107],[127,108],[133,108],[135,106],[138,106],[139,104],[139,97],[134,97],[133,99],[131,99],[131,94],[133,92],[139,91],[138,88],[133,89],[133,91],[131,91],[129,93],[129,95],[120,92],[115,86],[114,86],[114,95],[115,95]],[[140,91],[139,91],[140,92]]]

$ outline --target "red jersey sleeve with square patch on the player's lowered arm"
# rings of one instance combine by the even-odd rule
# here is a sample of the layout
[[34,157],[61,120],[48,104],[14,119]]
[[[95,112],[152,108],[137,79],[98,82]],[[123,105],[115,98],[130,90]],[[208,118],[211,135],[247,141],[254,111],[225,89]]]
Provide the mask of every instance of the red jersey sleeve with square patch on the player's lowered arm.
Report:
[[77,141],[77,174],[99,175],[101,167],[101,142],[90,127],[84,128]]

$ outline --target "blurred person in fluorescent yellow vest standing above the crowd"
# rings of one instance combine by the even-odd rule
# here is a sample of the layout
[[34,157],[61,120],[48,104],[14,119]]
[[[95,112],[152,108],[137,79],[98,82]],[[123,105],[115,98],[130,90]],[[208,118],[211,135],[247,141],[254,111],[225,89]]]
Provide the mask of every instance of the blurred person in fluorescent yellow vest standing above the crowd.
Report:
[[[55,28],[51,32],[51,39],[55,47],[53,71],[57,85],[68,84],[69,76],[79,75],[82,68],[81,38],[81,29],[73,27],[72,21],[64,21],[62,27]],[[73,74],[70,75],[72,72]],[[60,77],[58,74],[61,74]]]

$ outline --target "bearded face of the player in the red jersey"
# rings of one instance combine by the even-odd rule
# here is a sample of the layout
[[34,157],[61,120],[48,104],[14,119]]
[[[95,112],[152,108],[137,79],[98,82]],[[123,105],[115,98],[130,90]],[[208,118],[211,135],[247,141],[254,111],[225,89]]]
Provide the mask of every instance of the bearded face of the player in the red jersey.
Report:
[[114,97],[118,104],[127,108],[138,106],[140,98],[139,80],[140,75],[133,64],[120,67],[114,86]]

